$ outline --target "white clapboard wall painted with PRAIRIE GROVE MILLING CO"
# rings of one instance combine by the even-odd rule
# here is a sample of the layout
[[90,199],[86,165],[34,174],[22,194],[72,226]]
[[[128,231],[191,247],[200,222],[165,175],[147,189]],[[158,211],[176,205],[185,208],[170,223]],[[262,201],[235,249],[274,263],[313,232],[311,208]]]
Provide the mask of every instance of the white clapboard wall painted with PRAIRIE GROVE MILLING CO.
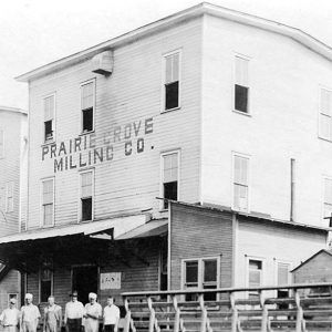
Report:
[[[80,83],[95,79],[96,146],[114,126],[141,121],[145,151],[124,155],[124,141],[114,144],[114,159],[95,165],[95,219],[142,209],[158,211],[162,152],[181,151],[180,198],[198,200],[200,112],[200,21],[136,41],[114,50],[114,71],[105,77],[91,72],[90,61],[30,84],[29,228],[40,224],[40,178],[53,176],[53,159],[41,160],[42,98],[55,92],[55,141],[80,135]],[[160,114],[163,54],[181,51],[181,108]],[[153,118],[153,133],[143,135]],[[122,134],[123,135],[123,134]],[[133,145],[137,137],[133,137]],[[86,156],[86,152],[83,153]],[[77,222],[77,169],[55,174],[55,225]]]

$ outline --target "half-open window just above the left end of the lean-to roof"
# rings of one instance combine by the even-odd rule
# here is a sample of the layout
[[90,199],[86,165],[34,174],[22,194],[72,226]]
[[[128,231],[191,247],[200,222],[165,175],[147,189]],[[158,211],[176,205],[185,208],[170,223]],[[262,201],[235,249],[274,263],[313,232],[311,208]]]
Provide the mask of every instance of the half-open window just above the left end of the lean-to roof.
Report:
[[[163,198],[177,200],[178,199],[178,173],[179,173],[179,153],[173,152],[162,155],[162,177],[163,177]],[[164,209],[168,208],[168,203],[165,200]]]

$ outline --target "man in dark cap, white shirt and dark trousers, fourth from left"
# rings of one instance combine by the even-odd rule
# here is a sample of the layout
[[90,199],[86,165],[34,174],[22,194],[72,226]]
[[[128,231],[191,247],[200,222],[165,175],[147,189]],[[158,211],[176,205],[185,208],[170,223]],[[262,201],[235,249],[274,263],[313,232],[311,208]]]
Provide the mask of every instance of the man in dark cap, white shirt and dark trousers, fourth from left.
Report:
[[79,294],[76,291],[73,291],[70,297],[71,301],[65,304],[64,324],[68,332],[81,332],[84,307],[83,303],[77,300]]

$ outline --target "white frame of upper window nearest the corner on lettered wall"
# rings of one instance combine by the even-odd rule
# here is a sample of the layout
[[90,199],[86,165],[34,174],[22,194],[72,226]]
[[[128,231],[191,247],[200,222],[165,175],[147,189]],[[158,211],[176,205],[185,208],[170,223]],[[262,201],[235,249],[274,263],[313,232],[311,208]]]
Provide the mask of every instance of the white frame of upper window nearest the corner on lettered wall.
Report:
[[[176,49],[174,51],[163,54],[163,73],[162,73],[162,110],[160,113],[168,113],[181,108],[181,62],[183,62],[183,50]],[[178,105],[173,108],[166,110],[166,58],[178,54]]]

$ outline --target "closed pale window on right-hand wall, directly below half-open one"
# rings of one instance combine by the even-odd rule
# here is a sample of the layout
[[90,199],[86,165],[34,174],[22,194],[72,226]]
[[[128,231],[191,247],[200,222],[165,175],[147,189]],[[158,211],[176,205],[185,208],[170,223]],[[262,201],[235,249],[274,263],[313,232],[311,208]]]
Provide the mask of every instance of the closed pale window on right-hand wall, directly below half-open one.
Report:
[[248,210],[248,157],[234,156],[234,208],[240,211]]

